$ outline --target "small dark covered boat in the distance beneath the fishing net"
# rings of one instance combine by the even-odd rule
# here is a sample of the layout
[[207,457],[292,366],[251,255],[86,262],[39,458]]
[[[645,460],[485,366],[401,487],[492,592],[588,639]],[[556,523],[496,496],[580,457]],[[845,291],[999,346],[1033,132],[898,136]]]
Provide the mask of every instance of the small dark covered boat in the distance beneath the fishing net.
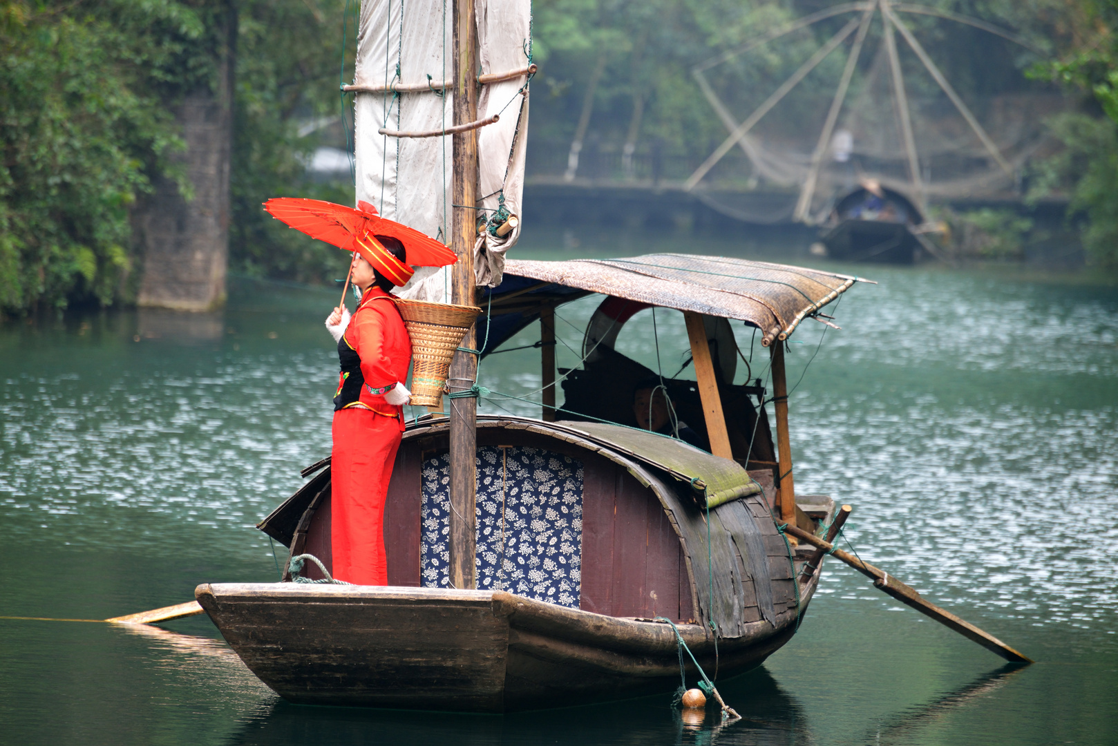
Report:
[[847,262],[913,264],[936,255],[918,233],[923,216],[916,205],[893,189],[879,190],[882,206],[878,209],[863,209],[874,197],[864,187],[839,200],[822,235],[827,256]]

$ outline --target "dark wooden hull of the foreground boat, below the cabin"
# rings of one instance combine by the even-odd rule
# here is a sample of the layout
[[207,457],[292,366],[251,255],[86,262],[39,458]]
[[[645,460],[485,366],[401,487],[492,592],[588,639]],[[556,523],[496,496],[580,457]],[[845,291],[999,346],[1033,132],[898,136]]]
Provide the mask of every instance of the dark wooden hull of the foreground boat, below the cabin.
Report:
[[[808,584],[800,612],[814,589]],[[560,707],[671,692],[675,633],[501,591],[344,585],[203,584],[198,602],[245,664],[284,699],[472,712]],[[713,640],[679,624],[710,672]],[[718,641],[720,678],[759,665],[796,614]],[[689,665],[688,679],[695,672]]]

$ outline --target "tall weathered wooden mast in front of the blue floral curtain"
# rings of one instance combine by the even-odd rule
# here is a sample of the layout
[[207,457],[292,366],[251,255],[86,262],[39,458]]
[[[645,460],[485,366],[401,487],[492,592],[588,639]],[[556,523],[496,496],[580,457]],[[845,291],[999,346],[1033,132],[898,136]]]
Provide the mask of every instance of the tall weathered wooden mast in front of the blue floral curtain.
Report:
[[[477,23],[474,0],[454,0],[454,124],[477,119]],[[451,191],[454,207],[451,224],[451,247],[458,255],[452,275],[451,302],[476,304],[474,278],[474,242],[477,236],[477,130],[454,136],[454,171]],[[476,324],[470,328],[461,347],[475,349]],[[477,357],[458,351],[451,363],[448,389],[467,390],[477,376]],[[474,553],[476,549],[476,472],[477,399],[448,399],[451,415],[451,585],[455,588],[476,587]]]

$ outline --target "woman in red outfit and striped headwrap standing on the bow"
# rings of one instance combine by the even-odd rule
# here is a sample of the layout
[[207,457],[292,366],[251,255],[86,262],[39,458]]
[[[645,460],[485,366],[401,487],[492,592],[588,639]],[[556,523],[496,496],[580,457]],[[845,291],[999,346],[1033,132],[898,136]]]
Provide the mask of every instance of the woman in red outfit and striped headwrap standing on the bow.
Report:
[[338,341],[341,374],[334,395],[331,459],[333,576],[356,585],[387,585],[385,499],[404,432],[404,387],[411,340],[388,291],[414,270],[404,244],[366,235],[353,253],[353,284],[361,300],[352,317],[344,305],[326,319]]

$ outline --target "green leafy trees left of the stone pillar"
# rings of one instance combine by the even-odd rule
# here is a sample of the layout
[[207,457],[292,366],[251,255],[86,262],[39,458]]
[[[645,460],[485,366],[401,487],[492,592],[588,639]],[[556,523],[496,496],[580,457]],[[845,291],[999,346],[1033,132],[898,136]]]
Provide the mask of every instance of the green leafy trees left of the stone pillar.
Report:
[[207,75],[205,41],[180,3],[0,6],[0,308],[126,292],[129,206],[167,169],[164,100]]

